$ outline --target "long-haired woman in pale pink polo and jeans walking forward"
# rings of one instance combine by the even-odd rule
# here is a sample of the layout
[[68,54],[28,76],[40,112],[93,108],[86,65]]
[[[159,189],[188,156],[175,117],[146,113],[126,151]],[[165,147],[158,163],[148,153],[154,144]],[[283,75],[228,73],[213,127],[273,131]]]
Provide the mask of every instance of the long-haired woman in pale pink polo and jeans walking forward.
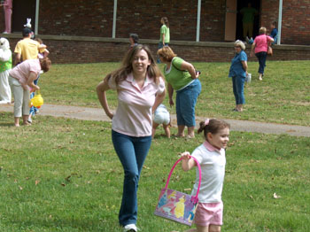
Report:
[[[118,95],[115,113],[110,111],[106,91]],[[144,159],[151,146],[151,114],[166,95],[165,81],[151,50],[141,44],[129,50],[120,69],[97,85],[97,96],[112,119],[112,143],[125,172],[119,221],[124,231],[137,231],[137,187]]]

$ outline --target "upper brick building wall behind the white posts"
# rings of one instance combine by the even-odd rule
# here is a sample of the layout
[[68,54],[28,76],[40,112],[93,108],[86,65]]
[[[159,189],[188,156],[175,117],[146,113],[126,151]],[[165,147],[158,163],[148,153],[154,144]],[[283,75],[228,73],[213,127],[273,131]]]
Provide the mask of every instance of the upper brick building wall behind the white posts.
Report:
[[[38,34],[111,38],[113,2],[40,1]],[[143,39],[159,40],[159,20],[167,16],[173,41],[196,41],[197,4],[198,0],[118,0],[116,38],[135,32]],[[279,0],[261,0],[260,25],[270,27],[278,19],[278,8]],[[224,41],[225,9],[225,0],[201,0],[200,41]],[[4,14],[0,30],[4,31]],[[306,45],[309,41],[309,0],[283,1],[282,43]]]

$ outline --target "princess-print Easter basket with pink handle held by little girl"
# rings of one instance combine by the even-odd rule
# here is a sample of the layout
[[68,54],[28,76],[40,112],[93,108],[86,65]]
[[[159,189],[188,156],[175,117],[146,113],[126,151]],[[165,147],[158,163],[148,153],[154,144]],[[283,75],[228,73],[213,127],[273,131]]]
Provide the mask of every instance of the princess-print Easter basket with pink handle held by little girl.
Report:
[[190,157],[195,160],[199,170],[199,183],[196,196],[191,196],[189,194],[167,188],[170,177],[174,171],[174,167],[182,160],[178,159],[171,168],[165,188],[160,191],[159,202],[154,212],[154,214],[159,217],[174,220],[188,226],[191,226],[195,217],[201,183],[201,168],[198,160],[192,156]]

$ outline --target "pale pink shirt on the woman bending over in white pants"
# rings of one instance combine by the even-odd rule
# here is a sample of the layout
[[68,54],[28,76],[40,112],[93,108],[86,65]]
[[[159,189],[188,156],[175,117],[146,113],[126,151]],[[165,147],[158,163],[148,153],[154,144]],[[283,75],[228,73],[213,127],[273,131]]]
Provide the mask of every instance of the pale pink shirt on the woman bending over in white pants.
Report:
[[38,58],[27,59],[21,62],[18,66],[15,66],[10,71],[10,75],[13,78],[17,79],[24,89],[27,89],[29,88],[27,85],[27,81],[28,81],[30,72],[34,72],[37,78],[40,71],[41,71],[41,65],[40,65],[40,61]]

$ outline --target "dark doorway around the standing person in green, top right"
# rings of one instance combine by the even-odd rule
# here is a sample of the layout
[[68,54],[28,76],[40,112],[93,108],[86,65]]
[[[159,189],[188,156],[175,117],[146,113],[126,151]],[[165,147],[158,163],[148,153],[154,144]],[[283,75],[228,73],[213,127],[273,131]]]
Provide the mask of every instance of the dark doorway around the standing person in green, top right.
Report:
[[237,0],[236,5],[236,39],[244,41],[244,27],[242,23],[242,17],[243,15],[240,13],[240,10],[244,7],[247,7],[248,3],[252,4],[252,7],[255,8],[259,14],[255,16],[254,18],[254,24],[253,24],[253,39],[255,36],[259,35],[259,29],[260,29],[260,1],[255,0]]

